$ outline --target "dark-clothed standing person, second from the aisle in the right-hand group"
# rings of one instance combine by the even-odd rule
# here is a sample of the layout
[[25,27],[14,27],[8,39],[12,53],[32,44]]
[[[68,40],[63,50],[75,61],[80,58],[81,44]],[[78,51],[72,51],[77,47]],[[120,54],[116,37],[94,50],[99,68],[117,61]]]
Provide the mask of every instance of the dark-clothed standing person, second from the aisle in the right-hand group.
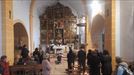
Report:
[[80,69],[82,69],[83,74],[85,73],[85,62],[86,62],[86,52],[85,48],[82,46],[78,51],[78,63]]

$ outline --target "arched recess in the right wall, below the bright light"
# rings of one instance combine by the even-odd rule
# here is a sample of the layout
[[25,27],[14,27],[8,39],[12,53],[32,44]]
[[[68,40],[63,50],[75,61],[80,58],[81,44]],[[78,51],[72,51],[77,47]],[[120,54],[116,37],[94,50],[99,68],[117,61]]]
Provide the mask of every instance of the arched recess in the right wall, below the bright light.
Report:
[[102,15],[97,14],[92,21],[91,39],[93,48],[100,51],[104,49],[105,19]]

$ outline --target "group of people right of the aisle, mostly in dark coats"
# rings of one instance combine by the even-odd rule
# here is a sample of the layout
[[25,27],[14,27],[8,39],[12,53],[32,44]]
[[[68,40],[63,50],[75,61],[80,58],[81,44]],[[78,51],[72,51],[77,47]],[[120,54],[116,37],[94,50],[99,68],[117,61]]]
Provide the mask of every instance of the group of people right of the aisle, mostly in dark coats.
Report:
[[[77,55],[70,48],[67,54],[68,69],[72,72],[74,61],[78,60],[78,68],[80,72],[85,73],[87,70],[88,75],[133,75],[134,64],[128,65],[122,58],[116,57],[116,69],[112,70],[112,57],[108,50],[99,52],[98,50],[88,50],[86,54],[85,48],[81,47]],[[77,58],[75,58],[77,57]]]

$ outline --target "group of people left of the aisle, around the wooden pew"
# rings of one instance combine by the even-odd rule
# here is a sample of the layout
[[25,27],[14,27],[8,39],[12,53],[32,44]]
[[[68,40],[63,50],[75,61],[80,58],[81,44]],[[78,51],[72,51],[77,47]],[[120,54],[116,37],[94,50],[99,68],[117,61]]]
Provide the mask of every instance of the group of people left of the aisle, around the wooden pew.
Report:
[[[50,75],[51,64],[49,63],[49,55],[42,49],[35,48],[30,54],[26,45],[19,48],[20,57],[15,59],[14,65],[42,65],[42,75]],[[7,56],[3,55],[0,59],[0,75],[10,75],[9,62]],[[36,74],[35,74],[36,75]]]

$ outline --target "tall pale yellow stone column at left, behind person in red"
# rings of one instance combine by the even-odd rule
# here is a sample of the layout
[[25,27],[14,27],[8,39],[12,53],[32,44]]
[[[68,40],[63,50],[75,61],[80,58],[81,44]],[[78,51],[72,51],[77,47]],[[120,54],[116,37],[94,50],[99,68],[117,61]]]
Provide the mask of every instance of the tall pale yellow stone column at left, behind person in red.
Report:
[[2,50],[10,65],[14,62],[12,0],[2,0]]

